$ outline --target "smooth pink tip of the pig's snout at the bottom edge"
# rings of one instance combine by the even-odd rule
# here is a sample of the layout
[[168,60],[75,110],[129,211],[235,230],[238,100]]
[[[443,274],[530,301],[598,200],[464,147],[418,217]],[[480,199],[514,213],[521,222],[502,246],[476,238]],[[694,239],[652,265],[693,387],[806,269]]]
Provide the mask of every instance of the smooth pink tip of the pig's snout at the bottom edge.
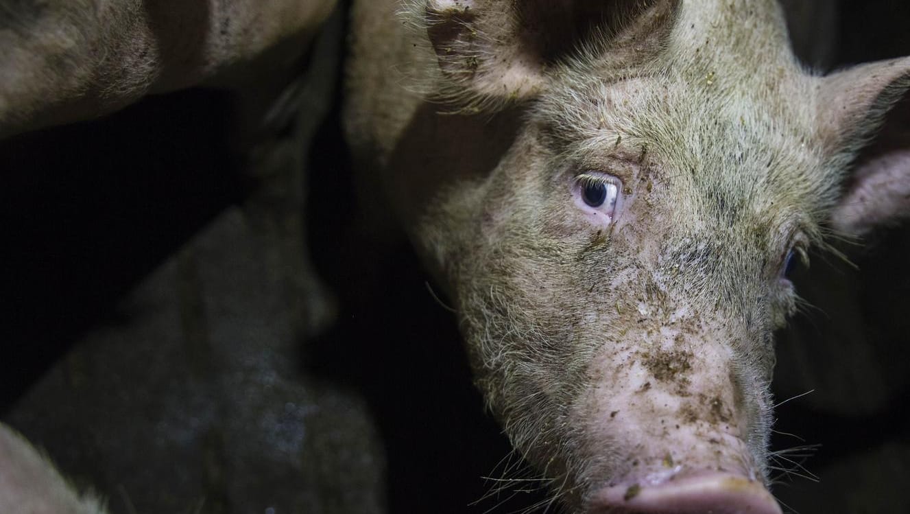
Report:
[[587,514],[781,514],[761,483],[713,473],[675,478],[654,486],[605,488],[591,497]]

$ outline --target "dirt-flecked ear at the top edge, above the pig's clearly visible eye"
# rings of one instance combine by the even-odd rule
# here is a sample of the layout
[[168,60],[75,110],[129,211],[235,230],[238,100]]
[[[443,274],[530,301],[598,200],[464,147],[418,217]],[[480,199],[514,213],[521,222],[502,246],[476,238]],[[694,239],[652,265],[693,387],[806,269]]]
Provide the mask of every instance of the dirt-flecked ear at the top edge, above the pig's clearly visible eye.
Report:
[[450,96],[508,103],[539,95],[551,67],[591,43],[592,36],[625,36],[641,53],[642,40],[659,35],[659,25],[668,25],[677,5],[678,0],[427,0],[424,19]]

